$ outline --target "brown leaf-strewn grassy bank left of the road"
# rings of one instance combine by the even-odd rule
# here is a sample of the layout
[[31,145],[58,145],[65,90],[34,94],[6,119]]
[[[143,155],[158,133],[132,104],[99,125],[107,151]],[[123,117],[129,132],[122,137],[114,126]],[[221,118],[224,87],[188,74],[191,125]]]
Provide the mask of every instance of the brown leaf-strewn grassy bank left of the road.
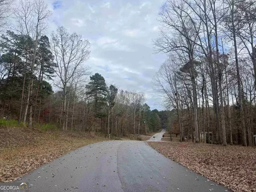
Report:
[[83,134],[0,127],[0,182],[10,182],[76,148],[103,141]]

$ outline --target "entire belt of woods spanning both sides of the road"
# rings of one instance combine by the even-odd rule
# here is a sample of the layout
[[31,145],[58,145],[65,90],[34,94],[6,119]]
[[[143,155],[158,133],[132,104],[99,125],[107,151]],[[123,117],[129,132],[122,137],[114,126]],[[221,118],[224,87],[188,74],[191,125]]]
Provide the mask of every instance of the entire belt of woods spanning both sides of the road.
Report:
[[3,1],[0,116],[106,137],[167,128],[180,142],[254,146],[255,10],[250,0],[167,0],[154,40],[167,59],[153,79],[166,111],[151,111],[145,93],[92,74],[86,37],[64,26],[47,32],[43,0]]

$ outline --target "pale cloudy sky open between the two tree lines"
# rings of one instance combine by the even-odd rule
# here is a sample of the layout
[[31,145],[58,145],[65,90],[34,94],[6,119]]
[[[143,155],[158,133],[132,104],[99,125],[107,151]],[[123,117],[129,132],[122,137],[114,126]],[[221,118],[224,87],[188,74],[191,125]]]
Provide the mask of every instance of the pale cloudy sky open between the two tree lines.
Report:
[[154,54],[157,15],[164,0],[46,0],[53,15],[50,30],[64,26],[91,43],[92,74],[119,89],[143,91],[151,109],[162,107],[151,80],[165,55]]

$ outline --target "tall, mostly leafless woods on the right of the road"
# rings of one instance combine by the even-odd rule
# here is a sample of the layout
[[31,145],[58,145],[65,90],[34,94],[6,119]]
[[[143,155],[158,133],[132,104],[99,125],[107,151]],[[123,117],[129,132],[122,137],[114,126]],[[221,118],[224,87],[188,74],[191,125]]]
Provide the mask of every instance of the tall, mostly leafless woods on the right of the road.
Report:
[[256,3],[167,0],[155,51],[167,55],[154,89],[172,126],[195,142],[254,146]]

